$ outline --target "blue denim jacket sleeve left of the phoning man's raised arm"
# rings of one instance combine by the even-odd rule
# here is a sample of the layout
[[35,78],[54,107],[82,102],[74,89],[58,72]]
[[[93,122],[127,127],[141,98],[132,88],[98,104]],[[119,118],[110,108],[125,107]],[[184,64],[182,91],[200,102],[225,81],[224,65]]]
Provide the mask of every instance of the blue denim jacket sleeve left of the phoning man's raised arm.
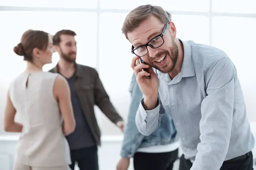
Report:
[[143,134],[138,131],[135,125],[135,115],[140,105],[140,100],[143,97],[139,85],[137,84],[135,74],[132,77],[129,90],[131,92],[131,104],[121,150],[121,156],[124,158],[133,157],[144,138]]

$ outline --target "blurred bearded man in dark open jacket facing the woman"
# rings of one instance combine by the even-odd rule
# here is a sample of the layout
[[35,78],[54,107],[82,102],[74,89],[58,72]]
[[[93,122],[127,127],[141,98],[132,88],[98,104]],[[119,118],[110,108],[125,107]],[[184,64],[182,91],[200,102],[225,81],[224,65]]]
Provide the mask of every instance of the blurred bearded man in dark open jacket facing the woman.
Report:
[[53,45],[60,60],[50,72],[64,76],[70,86],[76,119],[75,131],[67,136],[72,161],[70,168],[74,170],[77,162],[80,170],[98,170],[97,146],[100,145],[100,130],[93,106],[97,105],[122,131],[124,124],[110,102],[97,71],[76,63],[75,36],[76,33],[71,30],[61,30],[53,36]]

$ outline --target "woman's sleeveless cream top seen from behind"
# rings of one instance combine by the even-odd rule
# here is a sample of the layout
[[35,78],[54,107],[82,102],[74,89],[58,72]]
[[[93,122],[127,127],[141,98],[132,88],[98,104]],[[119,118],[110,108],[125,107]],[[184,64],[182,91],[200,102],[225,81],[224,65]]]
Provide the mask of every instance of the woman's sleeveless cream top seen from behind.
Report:
[[71,163],[53,93],[58,75],[44,71],[22,73],[10,85],[10,99],[23,125],[17,144],[17,162],[41,167]]

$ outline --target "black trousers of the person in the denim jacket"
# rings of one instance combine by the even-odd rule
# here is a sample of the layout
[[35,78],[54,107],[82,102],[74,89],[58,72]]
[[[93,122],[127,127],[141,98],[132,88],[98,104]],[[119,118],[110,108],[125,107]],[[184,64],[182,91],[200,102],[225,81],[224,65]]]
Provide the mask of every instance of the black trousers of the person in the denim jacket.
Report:
[[177,156],[178,149],[165,153],[137,152],[134,154],[134,170],[172,170]]

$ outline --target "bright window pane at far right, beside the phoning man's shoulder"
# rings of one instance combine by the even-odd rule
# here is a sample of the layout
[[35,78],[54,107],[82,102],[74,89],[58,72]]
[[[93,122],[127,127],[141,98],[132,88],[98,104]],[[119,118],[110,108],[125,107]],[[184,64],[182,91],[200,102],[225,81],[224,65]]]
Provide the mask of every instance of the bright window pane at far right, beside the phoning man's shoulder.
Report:
[[213,45],[225,51],[236,65],[247,115],[251,121],[256,121],[256,18],[213,17],[212,25]]

